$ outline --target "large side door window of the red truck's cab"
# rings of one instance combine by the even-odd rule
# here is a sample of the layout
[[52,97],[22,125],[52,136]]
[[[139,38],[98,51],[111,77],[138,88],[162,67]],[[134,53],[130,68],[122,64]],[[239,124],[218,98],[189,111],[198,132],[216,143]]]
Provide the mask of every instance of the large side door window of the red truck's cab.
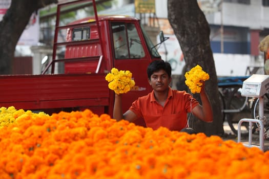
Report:
[[132,23],[111,23],[116,59],[142,58],[145,53]]

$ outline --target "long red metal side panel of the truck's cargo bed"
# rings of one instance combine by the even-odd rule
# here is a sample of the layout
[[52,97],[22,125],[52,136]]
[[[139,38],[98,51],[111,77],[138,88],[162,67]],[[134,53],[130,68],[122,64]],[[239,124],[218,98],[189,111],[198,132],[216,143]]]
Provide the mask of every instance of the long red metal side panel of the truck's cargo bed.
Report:
[[105,74],[0,76],[0,106],[39,109],[108,103]]

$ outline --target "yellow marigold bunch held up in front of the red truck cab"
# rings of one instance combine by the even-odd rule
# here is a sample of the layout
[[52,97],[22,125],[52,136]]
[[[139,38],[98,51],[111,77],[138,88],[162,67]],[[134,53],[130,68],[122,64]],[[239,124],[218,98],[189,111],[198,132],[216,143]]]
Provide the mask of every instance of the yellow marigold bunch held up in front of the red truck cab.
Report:
[[111,73],[107,74],[106,80],[109,82],[108,87],[116,94],[127,93],[135,85],[134,80],[132,80],[132,73],[128,70],[119,71],[113,68],[111,69]]

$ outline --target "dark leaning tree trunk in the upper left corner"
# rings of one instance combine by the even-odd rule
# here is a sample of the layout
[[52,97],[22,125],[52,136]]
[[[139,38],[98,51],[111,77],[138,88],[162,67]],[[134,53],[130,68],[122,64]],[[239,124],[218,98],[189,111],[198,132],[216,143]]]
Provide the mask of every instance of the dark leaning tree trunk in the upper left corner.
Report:
[[12,61],[17,41],[22,35],[32,13],[57,0],[12,0],[2,21],[0,21],[0,74],[11,74]]

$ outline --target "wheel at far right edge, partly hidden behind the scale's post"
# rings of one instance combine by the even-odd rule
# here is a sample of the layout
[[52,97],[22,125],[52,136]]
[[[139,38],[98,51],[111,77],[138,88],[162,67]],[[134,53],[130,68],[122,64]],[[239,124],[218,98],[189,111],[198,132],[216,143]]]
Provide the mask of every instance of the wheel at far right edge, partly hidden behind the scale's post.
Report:
[[[269,128],[269,98],[268,94],[264,95],[263,98],[263,115],[265,117],[265,126],[264,128]],[[259,98],[256,98],[253,102],[252,108],[251,108],[251,115],[253,119],[258,119],[259,116]],[[253,129],[253,132],[259,131],[258,123],[256,123]],[[266,129],[266,130],[267,130]],[[268,137],[269,137],[269,131],[268,131]]]

